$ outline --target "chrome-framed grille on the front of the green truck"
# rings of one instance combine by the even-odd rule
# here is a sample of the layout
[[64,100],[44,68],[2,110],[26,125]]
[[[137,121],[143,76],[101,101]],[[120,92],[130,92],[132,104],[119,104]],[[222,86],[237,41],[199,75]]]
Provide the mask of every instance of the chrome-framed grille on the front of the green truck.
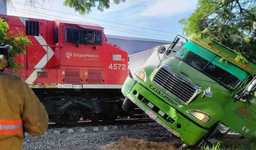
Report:
[[201,88],[191,82],[187,77],[170,70],[168,66],[162,66],[152,81],[167,94],[175,97],[182,103],[188,104],[201,92]]

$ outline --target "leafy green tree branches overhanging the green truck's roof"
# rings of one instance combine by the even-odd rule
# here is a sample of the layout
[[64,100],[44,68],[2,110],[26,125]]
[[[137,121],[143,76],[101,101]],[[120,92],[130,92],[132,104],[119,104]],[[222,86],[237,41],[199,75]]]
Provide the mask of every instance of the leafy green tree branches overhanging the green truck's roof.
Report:
[[196,10],[179,23],[186,36],[198,33],[208,44],[236,49],[236,61],[256,63],[256,0],[198,0]]

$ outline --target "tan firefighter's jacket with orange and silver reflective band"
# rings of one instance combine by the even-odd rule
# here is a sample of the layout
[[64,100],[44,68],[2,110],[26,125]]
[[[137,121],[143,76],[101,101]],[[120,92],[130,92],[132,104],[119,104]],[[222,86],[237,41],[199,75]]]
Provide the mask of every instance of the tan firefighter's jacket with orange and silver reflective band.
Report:
[[0,72],[0,150],[22,150],[24,131],[43,135],[47,112],[21,78]]

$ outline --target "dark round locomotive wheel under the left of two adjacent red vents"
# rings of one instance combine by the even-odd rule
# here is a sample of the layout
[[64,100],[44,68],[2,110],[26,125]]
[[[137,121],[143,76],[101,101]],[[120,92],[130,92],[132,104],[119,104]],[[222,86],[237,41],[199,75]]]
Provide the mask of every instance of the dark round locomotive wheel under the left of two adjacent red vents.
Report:
[[76,124],[81,118],[81,111],[69,109],[63,114],[63,122],[69,125]]

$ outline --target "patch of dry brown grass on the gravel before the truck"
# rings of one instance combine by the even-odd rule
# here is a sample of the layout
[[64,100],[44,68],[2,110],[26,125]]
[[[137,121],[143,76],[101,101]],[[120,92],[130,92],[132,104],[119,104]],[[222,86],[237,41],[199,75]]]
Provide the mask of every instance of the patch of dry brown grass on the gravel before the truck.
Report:
[[119,142],[104,145],[101,150],[176,150],[179,143],[150,142],[146,140],[123,137]]

